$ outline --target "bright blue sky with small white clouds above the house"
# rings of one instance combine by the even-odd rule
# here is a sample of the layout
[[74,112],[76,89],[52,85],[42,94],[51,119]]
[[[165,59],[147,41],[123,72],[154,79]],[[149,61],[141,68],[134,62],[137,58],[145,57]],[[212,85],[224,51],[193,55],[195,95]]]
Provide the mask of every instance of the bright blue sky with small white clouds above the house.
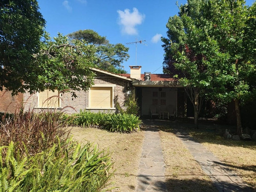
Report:
[[[252,5],[255,0],[248,0]],[[185,4],[179,0],[178,4]],[[161,36],[166,37],[168,18],[178,14],[176,0],[38,0],[40,12],[47,22],[46,31],[56,36],[92,29],[111,44],[129,47],[129,66],[142,66],[141,72],[162,73],[164,51]],[[142,44],[126,45],[145,40]],[[137,61],[137,63],[136,63]]]

